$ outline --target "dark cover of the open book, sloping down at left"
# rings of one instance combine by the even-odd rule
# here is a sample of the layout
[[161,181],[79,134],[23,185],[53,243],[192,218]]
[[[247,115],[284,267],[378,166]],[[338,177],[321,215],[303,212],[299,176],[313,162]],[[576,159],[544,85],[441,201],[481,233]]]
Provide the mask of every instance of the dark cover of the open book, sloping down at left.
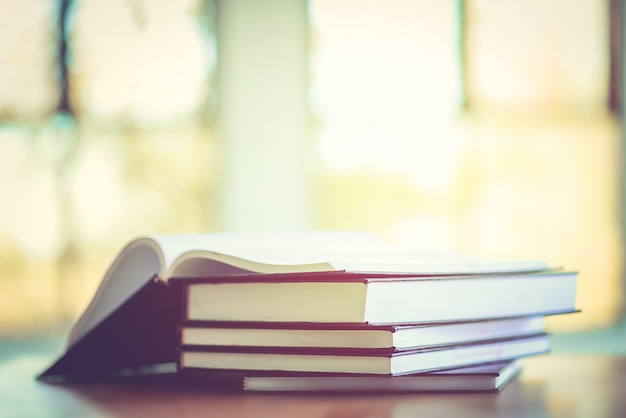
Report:
[[179,286],[150,280],[69,347],[38,380],[90,380],[175,364],[181,299]]

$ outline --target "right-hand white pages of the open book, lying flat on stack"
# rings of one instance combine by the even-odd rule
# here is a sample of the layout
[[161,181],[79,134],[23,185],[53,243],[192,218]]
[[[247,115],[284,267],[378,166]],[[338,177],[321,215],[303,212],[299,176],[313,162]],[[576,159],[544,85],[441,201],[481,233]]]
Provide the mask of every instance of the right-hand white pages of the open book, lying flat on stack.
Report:
[[166,278],[250,271],[471,274],[549,268],[542,260],[486,261],[450,251],[391,246],[364,232],[155,235],[153,239],[163,249]]

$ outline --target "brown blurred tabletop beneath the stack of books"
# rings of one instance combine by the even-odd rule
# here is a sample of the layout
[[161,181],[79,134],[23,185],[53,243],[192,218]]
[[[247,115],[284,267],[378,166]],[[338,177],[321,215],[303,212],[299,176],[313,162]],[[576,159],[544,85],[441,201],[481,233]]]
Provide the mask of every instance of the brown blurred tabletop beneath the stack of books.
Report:
[[500,393],[270,395],[34,380],[49,353],[0,358],[1,417],[626,417],[626,357],[549,354],[524,360]]

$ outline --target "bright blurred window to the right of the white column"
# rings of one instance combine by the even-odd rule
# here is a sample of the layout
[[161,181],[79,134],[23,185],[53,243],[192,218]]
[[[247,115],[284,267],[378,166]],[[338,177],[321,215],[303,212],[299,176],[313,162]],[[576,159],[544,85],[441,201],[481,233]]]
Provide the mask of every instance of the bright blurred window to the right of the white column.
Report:
[[554,329],[619,320],[609,3],[311,5],[319,222],[546,258],[581,273]]

